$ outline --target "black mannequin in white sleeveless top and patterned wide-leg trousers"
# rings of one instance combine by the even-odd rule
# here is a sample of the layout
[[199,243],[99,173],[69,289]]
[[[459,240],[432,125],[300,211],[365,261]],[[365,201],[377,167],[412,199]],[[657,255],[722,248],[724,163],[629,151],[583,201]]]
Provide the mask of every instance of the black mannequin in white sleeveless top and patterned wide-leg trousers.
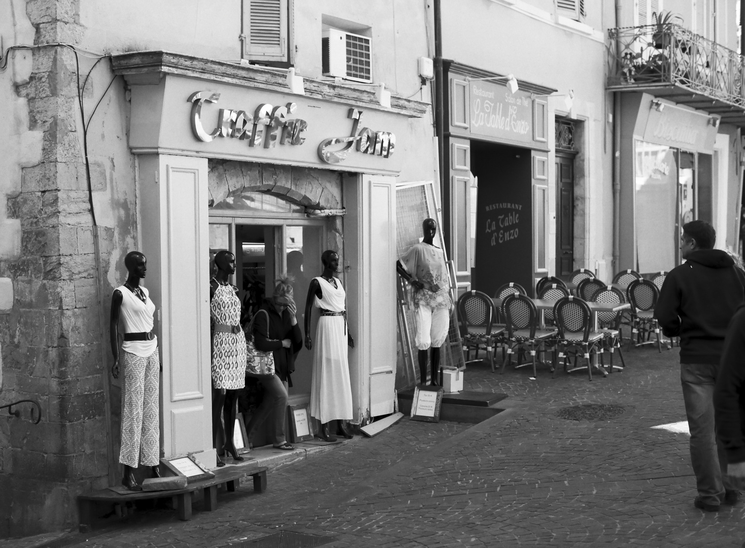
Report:
[[[130,491],[142,491],[133,471],[139,464],[152,468],[159,477],[160,461],[160,358],[158,340],[153,334],[155,305],[140,280],[148,272],[148,261],[133,251],[124,258],[127,281],[111,296],[110,342],[114,365],[111,375],[119,377],[119,363],[124,379],[121,383],[121,450],[119,462],[124,465],[121,484]],[[124,327],[124,342],[119,353],[119,320]]]

